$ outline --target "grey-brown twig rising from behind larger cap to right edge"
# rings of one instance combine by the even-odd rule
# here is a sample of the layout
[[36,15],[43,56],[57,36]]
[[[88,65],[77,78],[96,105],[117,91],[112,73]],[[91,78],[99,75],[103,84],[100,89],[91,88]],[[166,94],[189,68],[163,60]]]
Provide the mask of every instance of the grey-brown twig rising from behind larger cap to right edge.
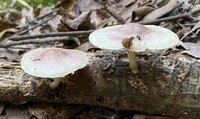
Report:
[[165,18],[160,18],[160,19],[155,19],[155,20],[150,20],[150,21],[141,21],[139,23],[140,24],[157,24],[157,23],[164,22],[164,21],[172,21],[172,20],[175,20],[175,19],[190,17],[193,14],[196,14],[198,12],[200,12],[200,9],[197,9],[195,11],[185,13],[185,14],[179,14],[179,15],[175,15],[175,16],[170,16],[170,17],[165,17]]

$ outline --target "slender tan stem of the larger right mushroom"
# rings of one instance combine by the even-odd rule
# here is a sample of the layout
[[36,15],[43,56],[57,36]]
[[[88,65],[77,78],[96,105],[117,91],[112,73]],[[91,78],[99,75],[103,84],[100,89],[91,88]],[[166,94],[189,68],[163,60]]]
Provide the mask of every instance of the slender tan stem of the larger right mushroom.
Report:
[[138,73],[139,70],[138,70],[138,65],[137,65],[137,62],[136,62],[136,53],[134,51],[129,50],[129,49],[127,49],[126,52],[127,52],[127,55],[128,55],[129,65],[130,65],[131,71],[133,73]]

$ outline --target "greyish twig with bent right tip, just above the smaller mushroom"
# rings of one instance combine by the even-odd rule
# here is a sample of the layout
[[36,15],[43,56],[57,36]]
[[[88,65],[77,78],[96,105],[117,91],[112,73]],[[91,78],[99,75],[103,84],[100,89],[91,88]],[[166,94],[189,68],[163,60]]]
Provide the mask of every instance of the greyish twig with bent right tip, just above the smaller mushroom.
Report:
[[45,39],[30,39],[30,40],[22,40],[22,41],[12,41],[12,42],[1,42],[0,43],[0,48],[8,48],[11,46],[16,46],[16,45],[23,45],[23,44],[42,44],[42,43],[49,43],[49,42],[56,42],[56,41],[67,41],[67,40],[74,40],[78,45],[80,45],[80,41],[76,38],[73,37],[50,37],[50,38],[45,38]]

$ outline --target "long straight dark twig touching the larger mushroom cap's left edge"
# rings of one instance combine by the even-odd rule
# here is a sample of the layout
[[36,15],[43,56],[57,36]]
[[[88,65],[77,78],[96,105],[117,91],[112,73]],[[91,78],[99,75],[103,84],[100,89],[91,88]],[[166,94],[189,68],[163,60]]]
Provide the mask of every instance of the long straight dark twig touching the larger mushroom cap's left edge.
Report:
[[88,35],[94,30],[88,31],[70,31],[70,32],[57,32],[57,33],[47,33],[47,34],[36,34],[36,35],[23,35],[23,36],[13,36],[9,37],[10,40],[26,40],[33,38],[44,38],[44,37],[55,37],[55,36],[76,36],[76,35]]

